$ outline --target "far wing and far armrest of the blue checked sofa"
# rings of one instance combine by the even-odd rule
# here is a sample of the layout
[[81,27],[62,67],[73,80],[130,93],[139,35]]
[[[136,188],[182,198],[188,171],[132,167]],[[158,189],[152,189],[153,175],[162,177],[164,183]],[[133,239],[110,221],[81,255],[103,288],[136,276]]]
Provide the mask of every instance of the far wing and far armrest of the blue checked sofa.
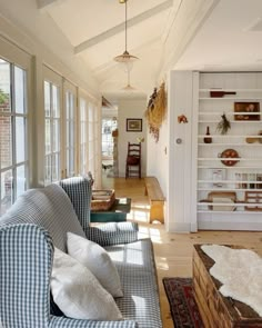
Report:
[[59,182],[70,198],[87,238],[101,246],[138,240],[138,223],[110,222],[99,225],[98,227],[89,226],[92,183],[93,179],[91,175],[88,177],[68,178]]

